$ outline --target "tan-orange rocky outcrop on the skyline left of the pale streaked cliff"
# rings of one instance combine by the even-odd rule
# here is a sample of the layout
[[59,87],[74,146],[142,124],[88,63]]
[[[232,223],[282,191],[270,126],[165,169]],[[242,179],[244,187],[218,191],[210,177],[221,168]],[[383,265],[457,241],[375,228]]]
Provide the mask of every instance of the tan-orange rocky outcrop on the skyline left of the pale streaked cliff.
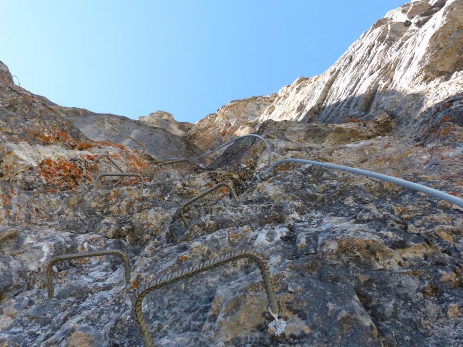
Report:
[[[271,94],[230,101],[216,113],[196,122],[184,137],[206,151],[220,146],[233,137],[253,133],[259,127],[257,119],[275,97],[275,94]],[[214,155],[219,154],[220,152]]]

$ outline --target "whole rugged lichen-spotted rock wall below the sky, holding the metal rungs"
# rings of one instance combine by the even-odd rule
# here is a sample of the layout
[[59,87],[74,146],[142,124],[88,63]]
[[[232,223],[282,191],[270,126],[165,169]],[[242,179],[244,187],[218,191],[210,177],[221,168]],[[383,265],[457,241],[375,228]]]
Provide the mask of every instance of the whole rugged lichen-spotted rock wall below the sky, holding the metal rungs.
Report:
[[[462,90],[449,92],[461,83],[459,62],[420,56],[418,48],[404,51],[407,42],[419,43],[416,35],[423,35],[425,52],[431,41],[443,57],[445,50],[461,51],[461,39],[451,41],[445,34],[459,38],[463,29],[453,19],[461,19],[456,16],[461,3],[407,3],[354,43],[374,43],[368,59],[382,56],[382,66],[402,52],[412,71],[418,57],[423,74],[410,73],[407,88],[422,86],[425,98],[415,104],[408,94],[393,101],[397,94],[387,92],[385,81],[388,74],[408,76],[405,67],[397,63],[383,79],[374,72],[368,79],[369,65],[359,56],[358,85],[346,83],[353,94],[339,87],[335,96],[332,85],[341,83],[339,77],[326,92],[338,98],[346,115],[329,111],[323,101],[315,118],[302,111],[293,118],[299,114],[291,106],[297,97],[304,109],[319,99],[312,92],[324,90],[314,82],[321,77],[311,77],[287,87],[287,96],[232,101],[180,136],[160,123],[161,128],[148,125],[150,116],[134,121],[58,106],[14,85],[0,64],[0,346],[142,346],[131,308],[136,289],[242,249],[266,260],[284,332],[277,336],[269,326],[273,318],[260,271],[251,261],[238,260],[145,297],[143,312],[155,346],[460,346],[462,208],[310,165],[280,165],[257,182],[268,152],[252,137],[212,156],[205,170],[166,166],[156,179],[149,161],[194,157],[255,132],[270,142],[273,160],[353,166],[463,197]],[[349,64],[346,69],[354,74]],[[390,85],[406,87],[395,78]],[[355,93],[373,81],[382,89],[371,97],[370,109],[355,114],[362,104]],[[268,119],[276,108],[291,120]],[[151,117],[156,122],[175,124],[169,114],[156,114]],[[136,144],[117,144],[127,133],[151,143],[148,154],[141,156]],[[104,178],[94,187],[98,174],[118,172],[107,159],[93,163],[101,154],[123,172],[142,175],[142,197],[138,177]],[[227,182],[238,199],[221,187],[195,201],[184,211],[187,228],[181,206],[219,182]],[[96,250],[127,253],[129,285],[116,256],[62,261],[52,269],[54,298],[47,299],[48,262]]]

